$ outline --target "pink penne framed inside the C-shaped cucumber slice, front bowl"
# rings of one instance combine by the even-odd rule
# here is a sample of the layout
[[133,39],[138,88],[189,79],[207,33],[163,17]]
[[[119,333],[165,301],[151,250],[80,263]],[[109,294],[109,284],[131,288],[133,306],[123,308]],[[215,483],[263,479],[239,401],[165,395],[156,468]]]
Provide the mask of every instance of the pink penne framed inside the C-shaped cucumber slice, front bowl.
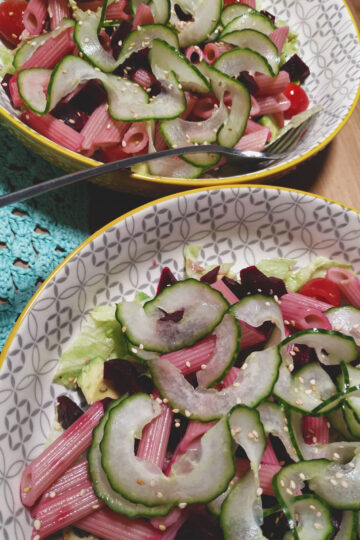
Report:
[[163,468],[173,412],[165,403],[161,404],[161,408],[161,414],[144,427],[136,455]]

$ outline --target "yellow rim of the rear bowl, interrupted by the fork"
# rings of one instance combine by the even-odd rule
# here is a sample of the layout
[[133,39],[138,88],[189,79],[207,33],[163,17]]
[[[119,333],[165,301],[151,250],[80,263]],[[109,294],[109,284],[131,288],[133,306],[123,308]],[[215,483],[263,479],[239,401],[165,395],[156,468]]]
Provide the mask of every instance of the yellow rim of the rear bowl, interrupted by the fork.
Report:
[[[355,20],[355,16],[353,15],[349,5],[347,4],[347,0],[340,0],[345,8],[348,11],[348,14],[350,16],[350,19],[353,23],[357,40],[358,40],[358,46],[360,47],[360,28],[357,25],[357,22]],[[287,171],[290,171],[292,168],[297,167],[300,163],[306,161],[307,159],[315,156],[318,152],[323,150],[331,141],[336,137],[336,135],[342,130],[342,128],[345,126],[345,124],[350,119],[358,101],[360,99],[360,77],[358,80],[358,88],[353,100],[353,103],[351,104],[346,116],[342,119],[340,124],[337,126],[336,129],[326,139],[321,141],[315,148],[308,150],[303,155],[294,158],[288,162],[285,162],[280,165],[275,165],[273,168],[265,170],[265,171],[256,171],[252,173],[248,173],[246,175],[241,176],[228,176],[224,178],[204,178],[204,179],[186,179],[186,178],[171,178],[167,176],[161,176],[156,177],[149,174],[140,174],[140,173],[131,173],[131,177],[137,180],[142,180],[145,182],[149,182],[150,184],[163,184],[164,182],[167,185],[171,186],[177,186],[181,189],[191,189],[192,187],[198,188],[198,187],[206,187],[206,186],[227,186],[228,184],[232,184],[234,182],[238,184],[247,184],[248,182],[254,182],[254,181],[262,181],[265,179],[268,179],[269,177],[274,176],[281,176],[282,174],[285,174]],[[4,109],[2,106],[0,106],[0,120],[1,117],[3,117],[7,122],[12,124],[12,126],[20,130],[23,135],[30,137],[34,142],[39,143],[42,146],[45,146],[45,148],[48,148],[49,150],[52,150],[56,152],[58,155],[60,154],[64,158],[70,158],[71,161],[75,162],[79,167],[78,168],[92,168],[96,167],[98,165],[101,165],[101,161],[97,161],[95,159],[83,156],[82,154],[78,154],[77,152],[73,152],[72,150],[68,150],[67,148],[51,141],[47,137],[44,137],[43,135],[40,135],[37,133],[34,129],[30,128],[26,124],[24,124],[19,118],[16,116],[13,116],[10,114],[6,109]],[[1,367],[1,363],[0,363]]]

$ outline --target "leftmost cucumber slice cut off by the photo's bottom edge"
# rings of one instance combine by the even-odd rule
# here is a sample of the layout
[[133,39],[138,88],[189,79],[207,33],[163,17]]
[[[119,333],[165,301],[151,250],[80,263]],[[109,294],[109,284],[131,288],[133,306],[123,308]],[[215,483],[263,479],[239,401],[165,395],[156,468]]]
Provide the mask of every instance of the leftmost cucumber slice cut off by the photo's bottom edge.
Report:
[[261,497],[253,471],[248,471],[231,489],[221,507],[220,525],[225,540],[266,540]]

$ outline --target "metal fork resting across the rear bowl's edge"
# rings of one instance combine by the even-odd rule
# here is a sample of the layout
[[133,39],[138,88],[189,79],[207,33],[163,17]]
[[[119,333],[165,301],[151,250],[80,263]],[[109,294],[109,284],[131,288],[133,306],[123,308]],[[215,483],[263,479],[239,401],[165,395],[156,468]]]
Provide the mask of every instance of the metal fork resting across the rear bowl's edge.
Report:
[[[153,159],[161,159],[163,157],[179,156],[181,154],[199,154],[203,152],[212,152],[227,156],[231,162],[236,165],[242,166],[242,172],[244,166],[247,170],[261,169],[276,161],[280,161],[287,157],[288,153],[297,145],[298,141],[304,136],[309,126],[314,121],[318,111],[313,111],[311,116],[305,117],[300,123],[289,126],[289,129],[284,132],[283,135],[275,139],[273,143],[268,145],[265,152],[254,152],[250,150],[241,151],[235,148],[227,148],[225,146],[219,146],[215,144],[206,144],[199,146],[186,146],[182,148],[168,148],[161,150],[153,154],[144,154],[142,156],[135,156],[130,158],[121,159],[119,161],[112,161],[111,163],[105,163],[104,165],[98,165],[91,169],[85,169],[74,173],[66,174],[58,178],[46,180],[41,184],[35,184],[19,191],[9,193],[0,197],[0,208],[8,205],[48,193],[60,187],[69,186],[82,180],[90,180],[97,176],[107,174],[110,172],[118,171],[132,167],[138,163],[145,163],[152,161]],[[191,182],[191,181],[189,181]]]

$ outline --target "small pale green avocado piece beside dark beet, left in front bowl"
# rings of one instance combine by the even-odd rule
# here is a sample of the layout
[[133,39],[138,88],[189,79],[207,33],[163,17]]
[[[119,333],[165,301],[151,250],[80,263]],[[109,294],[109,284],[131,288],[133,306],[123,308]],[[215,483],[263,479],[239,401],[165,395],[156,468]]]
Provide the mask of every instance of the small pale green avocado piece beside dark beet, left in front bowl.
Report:
[[100,356],[92,358],[82,368],[78,376],[77,385],[89,405],[106,397],[111,399],[117,399],[119,397],[119,394],[104,381],[104,363],[105,360]]

